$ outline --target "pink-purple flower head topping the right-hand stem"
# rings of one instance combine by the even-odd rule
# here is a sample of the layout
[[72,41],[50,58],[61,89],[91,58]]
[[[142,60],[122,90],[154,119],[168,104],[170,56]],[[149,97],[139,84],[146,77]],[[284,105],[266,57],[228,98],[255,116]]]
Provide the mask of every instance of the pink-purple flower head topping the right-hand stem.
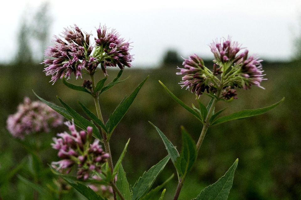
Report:
[[[209,47],[215,58],[213,71],[204,66],[202,58],[191,55],[183,62],[184,68],[178,68],[181,72],[177,74],[185,75],[180,83],[182,88],[191,88],[191,92],[196,92],[198,97],[205,90],[207,93],[217,93],[219,89],[225,89],[218,97],[225,100],[237,98],[235,87],[250,89],[251,85],[256,85],[262,88],[260,83],[266,79],[262,74],[262,60],[258,60],[256,55],[248,58],[248,50],[238,54],[243,48],[238,42],[231,41],[231,37],[224,38],[223,42],[216,40]],[[217,78],[219,75],[220,79]]]

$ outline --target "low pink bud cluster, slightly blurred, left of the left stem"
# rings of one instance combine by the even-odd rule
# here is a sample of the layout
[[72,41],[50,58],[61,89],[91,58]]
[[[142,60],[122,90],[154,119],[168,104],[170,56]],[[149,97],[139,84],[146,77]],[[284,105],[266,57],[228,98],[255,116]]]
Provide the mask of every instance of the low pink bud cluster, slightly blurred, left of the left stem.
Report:
[[91,172],[101,173],[101,165],[109,157],[99,145],[99,140],[90,144],[92,140],[92,127],[87,127],[87,132],[77,132],[74,123],[65,123],[71,134],[58,133],[59,138],[53,138],[52,148],[59,150],[58,157],[62,160],[52,162],[51,165],[61,172],[69,173],[73,165],[77,164],[77,178],[86,180]]

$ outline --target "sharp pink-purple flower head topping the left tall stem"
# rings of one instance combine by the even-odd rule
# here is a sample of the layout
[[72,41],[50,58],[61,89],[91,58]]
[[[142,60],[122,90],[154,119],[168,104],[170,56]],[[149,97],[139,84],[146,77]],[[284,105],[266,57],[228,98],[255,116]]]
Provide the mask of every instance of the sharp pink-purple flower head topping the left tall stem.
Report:
[[[107,75],[107,66],[117,66],[124,69],[130,67],[133,56],[129,54],[129,42],[119,38],[119,34],[113,29],[103,26],[97,29],[98,39],[95,44],[90,43],[90,34],[81,31],[77,25],[65,28],[61,37],[57,36],[52,42],[54,46],[48,46],[45,50],[45,73],[51,75],[51,81],[55,83],[59,78],[70,78],[74,73],[76,78],[82,75],[85,68],[94,73],[101,63],[103,73]],[[92,53],[94,49],[94,52]]]

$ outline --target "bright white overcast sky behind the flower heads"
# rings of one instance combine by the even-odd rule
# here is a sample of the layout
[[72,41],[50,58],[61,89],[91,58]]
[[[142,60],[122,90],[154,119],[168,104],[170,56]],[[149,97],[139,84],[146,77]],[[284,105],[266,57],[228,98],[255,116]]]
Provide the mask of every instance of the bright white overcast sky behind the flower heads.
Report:
[[[16,53],[20,17],[26,6],[41,0],[5,1],[0,11],[0,62]],[[77,24],[96,35],[99,23],[112,27],[133,42],[134,65],[156,65],[163,53],[174,48],[187,57],[211,56],[207,44],[232,36],[261,58],[289,59],[293,55],[293,32],[301,19],[300,0],[91,0],[50,1],[51,35]]]

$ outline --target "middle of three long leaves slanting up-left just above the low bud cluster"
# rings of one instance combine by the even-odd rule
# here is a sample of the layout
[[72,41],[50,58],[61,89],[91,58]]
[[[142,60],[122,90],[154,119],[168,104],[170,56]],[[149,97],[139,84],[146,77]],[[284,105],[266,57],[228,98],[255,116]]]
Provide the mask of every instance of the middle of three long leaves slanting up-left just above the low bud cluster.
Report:
[[89,122],[86,118],[82,117],[80,114],[78,114],[75,110],[73,110],[70,106],[68,106],[61,98],[56,96],[58,100],[61,102],[61,104],[66,108],[67,112],[74,118],[74,121],[77,121],[78,123],[82,124],[85,128],[83,130],[87,130],[88,126],[91,126],[93,128],[93,136],[100,141],[102,141],[101,135],[99,133],[99,129],[95,126],[95,124]]

